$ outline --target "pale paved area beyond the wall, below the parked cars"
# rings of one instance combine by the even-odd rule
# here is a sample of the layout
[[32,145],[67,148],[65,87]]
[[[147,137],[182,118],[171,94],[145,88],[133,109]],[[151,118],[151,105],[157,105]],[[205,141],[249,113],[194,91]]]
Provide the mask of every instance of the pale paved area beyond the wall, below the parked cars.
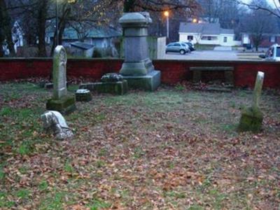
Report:
[[237,52],[232,50],[204,50],[193,51],[180,55],[179,53],[169,52],[165,55],[165,59],[211,59],[211,60],[236,60]]

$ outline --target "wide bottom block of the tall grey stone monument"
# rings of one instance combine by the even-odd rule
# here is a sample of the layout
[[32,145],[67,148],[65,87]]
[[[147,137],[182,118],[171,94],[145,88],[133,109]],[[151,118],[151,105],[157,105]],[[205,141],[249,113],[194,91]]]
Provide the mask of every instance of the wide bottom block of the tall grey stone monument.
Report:
[[160,71],[151,71],[145,76],[123,76],[129,89],[155,91],[160,86]]

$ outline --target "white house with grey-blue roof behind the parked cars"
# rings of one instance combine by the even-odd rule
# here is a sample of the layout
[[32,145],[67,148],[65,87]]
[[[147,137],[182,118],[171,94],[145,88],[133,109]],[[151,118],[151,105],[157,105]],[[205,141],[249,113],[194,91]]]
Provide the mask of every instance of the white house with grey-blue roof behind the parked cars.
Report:
[[217,23],[181,22],[179,41],[190,41],[193,44],[234,46],[241,45],[235,41],[233,29],[223,29]]

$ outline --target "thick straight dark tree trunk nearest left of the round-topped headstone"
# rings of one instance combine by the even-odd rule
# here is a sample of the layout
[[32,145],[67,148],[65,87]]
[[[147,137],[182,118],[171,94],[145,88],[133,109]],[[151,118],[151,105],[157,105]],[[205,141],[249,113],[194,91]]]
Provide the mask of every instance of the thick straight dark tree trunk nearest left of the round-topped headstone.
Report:
[[40,0],[38,9],[38,57],[46,57],[45,22],[48,15],[48,0]]

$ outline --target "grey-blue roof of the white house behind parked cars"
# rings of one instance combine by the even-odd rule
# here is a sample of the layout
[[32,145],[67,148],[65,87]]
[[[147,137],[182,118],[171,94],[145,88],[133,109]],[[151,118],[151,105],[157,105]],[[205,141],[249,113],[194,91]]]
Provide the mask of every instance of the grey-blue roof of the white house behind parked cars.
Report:
[[179,33],[200,33],[207,35],[235,34],[233,29],[222,29],[219,23],[181,22]]

